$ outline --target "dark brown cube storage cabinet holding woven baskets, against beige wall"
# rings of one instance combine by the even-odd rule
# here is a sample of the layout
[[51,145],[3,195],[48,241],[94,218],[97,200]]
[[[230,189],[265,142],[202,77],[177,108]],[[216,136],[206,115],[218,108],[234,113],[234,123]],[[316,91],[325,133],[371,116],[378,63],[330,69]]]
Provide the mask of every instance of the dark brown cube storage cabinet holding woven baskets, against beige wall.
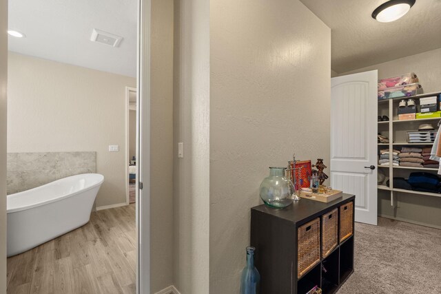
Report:
[[[336,293],[338,288],[353,273],[353,215],[355,196],[343,194],[329,203],[301,199],[285,209],[270,209],[265,205],[251,210],[251,245],[256,247],[255,264],[260,273],[260,294],[305,294],[314,286],[322,288],[323,294]],[[322,216],[338,209],[338,231],[340,227],[347,235],[348,221],[352,233],[322,256]],[[352,213],[347,213],[348,209]],[[344,211],[341,214],[341,211]],[[351,218],[348,220],[348,216]],[[298,271],[299,233],[309,229],[305,224],[320,220],[320,260],[303,271]],[[302,227],[303,226],[303,227]],[[299,232],[299,228],[302,228]],[[308,246],[316,246],[317,238],[311,238]],[[313,244],[313,245],[311,245]],[[314,251],[316,252],[316,251]],[[307,255],[309,256],[309,255]],[[300,254],[304,258],[305,254]],[[314,261],[314,258],[310,258]],[[298,273],[299,272],[299,273]]]

